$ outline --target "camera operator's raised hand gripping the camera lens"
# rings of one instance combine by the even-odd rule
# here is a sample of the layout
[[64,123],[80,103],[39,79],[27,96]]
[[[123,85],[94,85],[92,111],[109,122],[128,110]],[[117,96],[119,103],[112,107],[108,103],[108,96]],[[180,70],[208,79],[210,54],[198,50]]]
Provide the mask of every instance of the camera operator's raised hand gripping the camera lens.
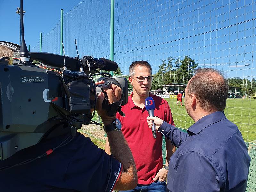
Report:
[[[99,82],[96,82],[95,84],[99,85],[99,84],[103,84],[103,83],[104,83],[104,81],[99,81]],[[109,84],[108,86],[103,85],[102,89],[104,92],[107,93],[109,104],[120,101],[121,94],[122,94],[122,90],[120,87],[118,87],[114,84]],[[108,124],[111,124],[115,120],[116,115],[108,116],[107,111],[102,108],[103,100],[104,100],[104,93],[100,92],[98,95],[98,98],[97,98],[96,109],[97,109],[97,113],[100,115],[100,117],[102,119],[103,124],[108,125]]]

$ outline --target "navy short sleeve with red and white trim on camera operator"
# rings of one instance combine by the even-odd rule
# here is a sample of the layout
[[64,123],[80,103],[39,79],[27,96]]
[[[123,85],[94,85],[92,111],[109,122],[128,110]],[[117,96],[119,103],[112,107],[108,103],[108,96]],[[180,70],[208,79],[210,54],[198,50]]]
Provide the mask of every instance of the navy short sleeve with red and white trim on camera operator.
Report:
[[108,192],[112,191],[121,175],[122,164],[94,145],[89,138],[80,138],[76,145],[76,152],[66,171],[65,188],[95,192],[107,188]]

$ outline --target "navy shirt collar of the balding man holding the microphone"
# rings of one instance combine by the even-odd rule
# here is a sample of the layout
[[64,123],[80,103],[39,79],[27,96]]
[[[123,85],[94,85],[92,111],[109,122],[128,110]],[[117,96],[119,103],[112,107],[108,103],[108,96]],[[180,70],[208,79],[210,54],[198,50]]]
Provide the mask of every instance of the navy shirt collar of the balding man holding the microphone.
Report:
[[221,112],[221,111],[213,112],[199,119],[196,123],[194,123],[192,126],[188,128],[187,132],[189,135],[192,135],[192,134],[197,135],[205,127],[208,127],[209,125],[214,124],[223,119],[226,119],[224,112]]

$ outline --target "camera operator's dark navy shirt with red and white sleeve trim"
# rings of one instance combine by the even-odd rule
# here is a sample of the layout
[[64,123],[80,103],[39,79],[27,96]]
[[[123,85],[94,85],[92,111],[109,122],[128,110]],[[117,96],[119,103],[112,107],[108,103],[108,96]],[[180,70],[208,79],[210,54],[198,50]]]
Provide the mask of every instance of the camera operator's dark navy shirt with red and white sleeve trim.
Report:
[[[0,167],[17,164],[40,156],[58,146],[67,136],[59,136],[18,151],[0,161]],[[77,132],[65,146],[33,162],[0,171],[1,191],[112,191],[122,171],[122,164],[94,145],[90,138]]]

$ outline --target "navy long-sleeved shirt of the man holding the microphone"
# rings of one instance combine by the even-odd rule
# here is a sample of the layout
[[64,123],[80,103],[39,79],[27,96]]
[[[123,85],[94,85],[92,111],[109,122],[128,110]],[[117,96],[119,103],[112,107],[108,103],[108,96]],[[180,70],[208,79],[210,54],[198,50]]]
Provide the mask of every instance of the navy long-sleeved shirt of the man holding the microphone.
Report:
[[188,133],[164,122],[159,131],[179,147],[169,162],[170,192],[245,192],[251,158],[237,126],[217,111]]

